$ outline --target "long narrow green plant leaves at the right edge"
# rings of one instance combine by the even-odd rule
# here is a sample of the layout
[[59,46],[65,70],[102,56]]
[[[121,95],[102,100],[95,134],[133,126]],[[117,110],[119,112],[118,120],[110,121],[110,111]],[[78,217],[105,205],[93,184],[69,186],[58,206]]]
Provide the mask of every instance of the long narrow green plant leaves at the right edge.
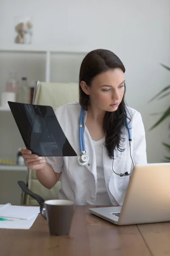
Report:
[[[165,66],[164,64],[161,64],[162,67],[166,68],[168,71],[170,71],[170,67]],[[170,84],[164,89],[162,89],[159,93],[157,93],[152,99],[150,99],[149,102],[152,102],[154,99],[163,99],[164,97],[170,96]],[[161,122],[163,122],[165,119],[170,117],[170,105],[169,107],[163,112],[162,116],[159,118],[159,120],[150,128],[150,131],[153,130],[156,126],[158,126]],[[169,124],[170,129],[170,124]],[[168,143],[162,143],[167,150],[170,152],[170,144]],[[165,157],[166,162],[170,162],[170,157]]]

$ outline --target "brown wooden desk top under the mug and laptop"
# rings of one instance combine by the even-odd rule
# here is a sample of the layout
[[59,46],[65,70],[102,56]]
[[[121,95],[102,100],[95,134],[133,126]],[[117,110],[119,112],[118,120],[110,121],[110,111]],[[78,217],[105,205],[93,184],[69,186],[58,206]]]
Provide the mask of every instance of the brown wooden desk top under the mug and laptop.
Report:
[[116,226],[77,206],[69,236],[50,236],[38,215],[30,230],[0,229],[0,256],[170,256],[170,223]]

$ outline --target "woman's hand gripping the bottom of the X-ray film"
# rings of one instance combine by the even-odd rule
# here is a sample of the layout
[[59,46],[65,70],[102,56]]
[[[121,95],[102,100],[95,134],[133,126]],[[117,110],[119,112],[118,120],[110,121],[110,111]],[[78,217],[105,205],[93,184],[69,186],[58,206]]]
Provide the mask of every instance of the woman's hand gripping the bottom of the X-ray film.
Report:
[[27,148],[22,148],[21,152],[23,153],[24,163],[29,169],[40,170],[46,166],[45,157],[38,157]]

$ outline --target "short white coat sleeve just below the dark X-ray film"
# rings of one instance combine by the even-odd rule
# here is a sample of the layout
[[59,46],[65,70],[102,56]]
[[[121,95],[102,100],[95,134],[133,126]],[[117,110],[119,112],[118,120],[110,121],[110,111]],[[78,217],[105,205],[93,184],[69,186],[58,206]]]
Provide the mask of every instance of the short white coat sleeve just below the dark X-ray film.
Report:
[[45,157],[46,163],[51,166],[54,172],[62,172],[63,169],[63,157]]

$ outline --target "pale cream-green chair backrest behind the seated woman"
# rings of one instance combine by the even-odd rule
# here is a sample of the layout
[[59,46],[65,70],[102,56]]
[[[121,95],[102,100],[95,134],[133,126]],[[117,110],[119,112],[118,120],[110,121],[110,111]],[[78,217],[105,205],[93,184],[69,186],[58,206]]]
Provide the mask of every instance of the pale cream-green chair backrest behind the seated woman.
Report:
[[[33,104],[50,105],[58,108],[61,105],[79,100],[79,87],[76,83],[45,83],[38,81],[34,89]],[[45,200],[58,199],[60,180],[52,189],[46,189],[37,180],[35,171],[28,170],[28,188],[41,195]],[[37,201],[27,197],[26,204],[37,204]]]

